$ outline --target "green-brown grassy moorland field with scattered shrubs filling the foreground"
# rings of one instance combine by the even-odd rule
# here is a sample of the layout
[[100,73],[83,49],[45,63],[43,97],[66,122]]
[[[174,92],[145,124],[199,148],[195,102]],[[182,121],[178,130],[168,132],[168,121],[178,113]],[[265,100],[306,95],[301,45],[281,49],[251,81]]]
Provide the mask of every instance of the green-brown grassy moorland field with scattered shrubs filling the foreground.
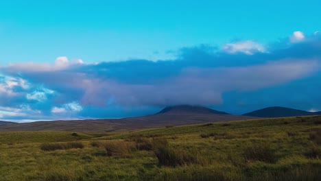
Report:
[[0,180],[321,180],[321,117],[0,132]]

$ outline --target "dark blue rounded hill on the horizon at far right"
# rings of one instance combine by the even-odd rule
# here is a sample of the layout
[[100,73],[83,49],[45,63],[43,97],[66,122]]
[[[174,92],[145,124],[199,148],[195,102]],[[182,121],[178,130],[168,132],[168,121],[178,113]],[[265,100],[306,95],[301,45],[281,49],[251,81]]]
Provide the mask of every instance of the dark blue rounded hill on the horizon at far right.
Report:
[[252,112],[248,112],[243,114],[243,116],[249,117],[298,117],[298,116],[310,116],[310,115],[318,115],[321,112],[307,112],[305,110],[297,110],[292,108],[284,108],[284,107],[269,107],[263,108],[260,110],[254,110]]

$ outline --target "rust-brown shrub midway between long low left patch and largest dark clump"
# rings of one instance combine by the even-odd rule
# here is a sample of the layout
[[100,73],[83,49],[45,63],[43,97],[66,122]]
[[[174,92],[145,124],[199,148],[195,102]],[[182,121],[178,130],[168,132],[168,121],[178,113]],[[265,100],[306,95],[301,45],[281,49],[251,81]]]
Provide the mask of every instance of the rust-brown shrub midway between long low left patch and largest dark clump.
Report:
[[130,154],[136,147],[132,142],[108,142],[104,145],[108,156],[123,156],[125,154]]

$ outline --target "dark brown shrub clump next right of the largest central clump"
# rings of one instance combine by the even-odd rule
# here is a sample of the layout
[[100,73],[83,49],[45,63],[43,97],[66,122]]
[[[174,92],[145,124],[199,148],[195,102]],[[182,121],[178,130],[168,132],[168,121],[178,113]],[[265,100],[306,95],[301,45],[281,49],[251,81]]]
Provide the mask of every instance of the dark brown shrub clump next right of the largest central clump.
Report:
[[250,144],[243,148],[243,156],[246,160],[257,160],[262,162],[276,162],[274,149],[267,143]]

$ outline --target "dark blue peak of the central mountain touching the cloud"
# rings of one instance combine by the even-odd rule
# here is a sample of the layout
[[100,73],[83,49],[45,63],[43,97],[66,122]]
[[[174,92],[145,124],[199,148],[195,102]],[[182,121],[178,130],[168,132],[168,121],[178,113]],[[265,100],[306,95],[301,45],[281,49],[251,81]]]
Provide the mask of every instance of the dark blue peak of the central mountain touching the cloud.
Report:
[[189,105],[168,106],[163,110],[160,110],[160,112],[158,112],[157,114],[182,113],[182,112],[193,112],[193,113],[200,113],[200,114],[228,114],[227,112],[221,112],[221,111],[213,110],[202,106],[189,106]]

